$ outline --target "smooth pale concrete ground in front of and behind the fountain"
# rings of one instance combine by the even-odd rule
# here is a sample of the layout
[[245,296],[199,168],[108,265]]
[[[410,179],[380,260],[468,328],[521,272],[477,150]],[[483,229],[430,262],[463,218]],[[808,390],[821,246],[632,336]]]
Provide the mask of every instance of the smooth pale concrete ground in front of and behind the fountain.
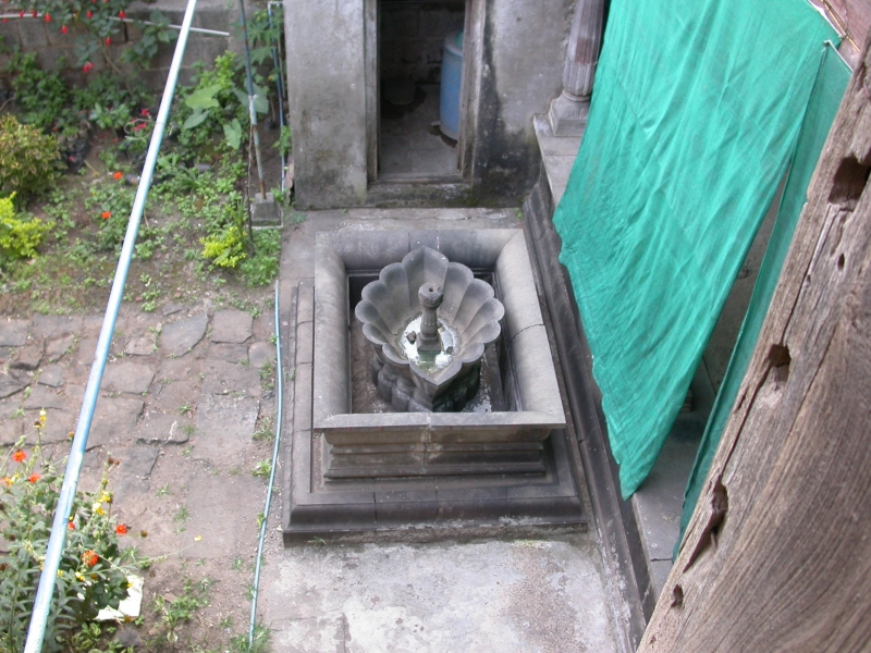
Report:
[[[519,225],[513,209],[309,212],[285,235],[282,313],[291,288],[314,274],[317,231]],[[270,515],[257,609],[272,629],[275,651],[618,650],[594,529],[428,543],[401,535],[367,543],[312,540],[285,549],[279,509]]]

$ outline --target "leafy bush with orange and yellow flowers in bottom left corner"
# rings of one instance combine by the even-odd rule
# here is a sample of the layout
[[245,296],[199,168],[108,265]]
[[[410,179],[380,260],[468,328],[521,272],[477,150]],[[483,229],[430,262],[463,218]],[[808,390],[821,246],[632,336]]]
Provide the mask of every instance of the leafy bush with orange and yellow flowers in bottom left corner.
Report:
[[[45,424],[45,412],[37,421]],[[33,611],[36,586],[58,504],[62,479],[42,457],[40,444],[25,449],[22,438],[0,463],[0,509],[5,551],[0,553],[0,651],[21,651]],[[14,452],[14,453],[13,453]],[[119,546],[126,527],[110,515],[107,463],[95,493],[77,493],[58,570],[44,651],[69,650],[74,629],[127,595],[132,571]]]

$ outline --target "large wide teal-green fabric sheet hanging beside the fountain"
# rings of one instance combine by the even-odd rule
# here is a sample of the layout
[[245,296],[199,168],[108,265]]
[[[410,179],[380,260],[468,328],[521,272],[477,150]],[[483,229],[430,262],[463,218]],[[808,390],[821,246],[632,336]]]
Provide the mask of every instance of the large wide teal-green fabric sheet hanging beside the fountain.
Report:
[[806,0],[611,2],[553,221],[624,497],[684,402],[834,36]]

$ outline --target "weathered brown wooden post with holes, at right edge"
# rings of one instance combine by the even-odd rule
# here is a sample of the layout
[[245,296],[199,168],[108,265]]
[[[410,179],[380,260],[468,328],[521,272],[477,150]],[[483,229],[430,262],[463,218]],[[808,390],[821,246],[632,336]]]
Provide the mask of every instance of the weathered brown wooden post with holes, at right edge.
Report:
[[871,645],[871,54],[641,653]]

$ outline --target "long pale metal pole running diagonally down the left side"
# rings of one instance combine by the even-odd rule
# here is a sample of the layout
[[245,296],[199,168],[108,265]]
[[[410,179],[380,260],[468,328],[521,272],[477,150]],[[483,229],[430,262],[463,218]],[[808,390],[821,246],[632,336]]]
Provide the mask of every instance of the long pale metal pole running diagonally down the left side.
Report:
[[24,653],[39,653],[42,650],[46,624],[48,621],[49,611],[51,609],[51,596],[54,593],[54,580],[58,577],[58,568],[60,567],[63,545],[66,540],[66,522],[70,519],[76,485],[78,484],[78,476],[82,472],[85,446],[87,445],[88,433],[90,432],[90,423],[94,419],[94,408],[97,405],[97,395],[100,390],[102,373],[106,369],[106,359],[109,357],[109,345],[112,343],[112,332],[115,328],[118,310],[124,295],[124,284],[126,283],[130,262],[133,258],[136,234],[139,231],[139,221],[145,210],[145,200],[151,187],[151,177],[155,173],[157,155],[158,150],[160,150],[160,143],[163,139],[163,132],[167,128],[167,119],[169,118],[170,106],[172,104],[172,96],[175,93],[179,69],[182,65],[182,57],[184,56],[184,49],[187,45],[187,35],[191,32],[191,23],[194,20],[194,8],[196,3],[197,0],[188,0],[187,2],[184,21],[182,22],[182,30],[179,34],[179,42],[175,45],[175,53],[172,57],[172,65],[170,66],[169,77],[167,78],[167,86],[163,90],[163,97],[160,100],[160,109],[157,112],[151,143],[148,146],[148,153],[145,158],[142,180],[139,181],[139,186],[136,188],[136,198],[133,201],[130,222],[127,223],[127,232],[124,236],[124,245],[121,249],[121,258],[118,261],[115,278],[112,282],[112,291],[109,293],[109,303],[106,306],[100,337],[97,341],[95,360],[90,367],[90,375],[88,377],[88,384],[85,387],[85,396],[82,401],[82,409],[78,414],[78,422],[70,451],[70,458],[66,463],[66,471],[63,476],[63,485],[61,486],[61,494],[58,500],[58,508],[54,512],[54,521],[51,525],[51,535],[48,540],[42,574],[39,576],[39,587],[36,591],[34,614],[30,617],[30,626],[27,629],[27,642],[24,645]]

